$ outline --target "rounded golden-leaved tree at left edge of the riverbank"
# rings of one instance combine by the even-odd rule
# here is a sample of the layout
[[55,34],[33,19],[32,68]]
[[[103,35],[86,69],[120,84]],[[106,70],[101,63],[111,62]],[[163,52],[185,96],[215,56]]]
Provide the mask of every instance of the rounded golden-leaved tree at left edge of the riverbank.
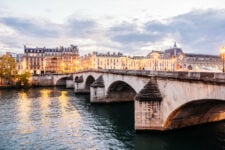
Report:
[[9,54],[5,54],[2,57],[0,57],[1,84],[3,79],[4,81],[7,81],[7,83],[9,84],[15,78],[16,74],[17,70],[15,59]]

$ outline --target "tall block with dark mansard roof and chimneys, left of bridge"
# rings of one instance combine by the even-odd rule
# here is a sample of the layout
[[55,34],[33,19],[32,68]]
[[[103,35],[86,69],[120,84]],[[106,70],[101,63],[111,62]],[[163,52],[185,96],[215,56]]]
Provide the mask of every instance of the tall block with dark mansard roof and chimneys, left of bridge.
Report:
[[32,74],[72,73],[79,57],[77,46],[68,48],[29,48],[24,46],[24,56],[20,62],[23,71]]

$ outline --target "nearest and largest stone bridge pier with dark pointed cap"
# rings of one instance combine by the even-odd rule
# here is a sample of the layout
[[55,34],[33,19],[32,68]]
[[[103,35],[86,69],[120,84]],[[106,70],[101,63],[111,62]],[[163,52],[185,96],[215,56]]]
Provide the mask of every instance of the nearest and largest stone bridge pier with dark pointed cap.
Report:
[[135,97],[135,130],[163,130],[161,101],[156,80],[151,79]]

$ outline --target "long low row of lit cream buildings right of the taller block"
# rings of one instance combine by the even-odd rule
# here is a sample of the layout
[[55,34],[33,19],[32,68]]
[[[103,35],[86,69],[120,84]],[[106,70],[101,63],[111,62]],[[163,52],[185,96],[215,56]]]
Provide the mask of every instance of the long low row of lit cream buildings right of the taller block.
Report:
[[153,50],[147,56],[125,56],[122,53],[97,53],[80,57],[80,68],[84,69],[128,69],[158,71],[214,71],[222,70],[219,56],[184,53],[174,46],[165,51]]

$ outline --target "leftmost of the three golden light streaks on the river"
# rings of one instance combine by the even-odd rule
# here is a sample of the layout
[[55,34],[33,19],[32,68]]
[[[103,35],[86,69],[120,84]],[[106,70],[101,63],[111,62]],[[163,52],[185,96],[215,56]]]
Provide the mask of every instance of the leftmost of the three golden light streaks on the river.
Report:
[[18,99],[18,130],[20,134],[27,134],[31,133],[35,130],[32,126],[32,122],[30,120],[31,115],[31,101],[28,99],[27,93],[20,92],[19,99]]

